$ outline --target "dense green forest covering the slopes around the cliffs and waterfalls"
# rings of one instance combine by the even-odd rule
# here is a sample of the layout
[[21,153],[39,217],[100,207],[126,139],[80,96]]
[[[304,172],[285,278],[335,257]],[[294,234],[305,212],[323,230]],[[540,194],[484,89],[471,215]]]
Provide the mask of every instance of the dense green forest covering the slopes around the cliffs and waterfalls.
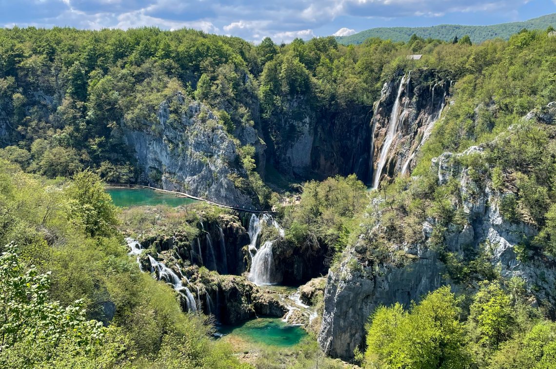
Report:
[[[126,255],[121,212],[104,191],[103,181],[140,181],[122,131],[156,134],[158,107],[176,101],[172,97],[180,91],[209,107],[237,143],[241,163],[234,165],[245,168],[261,203],[273,206],[285,228],[277,246],[287,252],[311,256],[327,248],[332,272],[363,273],[365,265],[378,273],[379,265],[412,262],[415,256],[399,245],[424,243],[423,223],[431,223],[426,245],[457,287],[430,291],[409,307],[376,308],[366,345],[355,355],[358,363],[553,367],[555,308],[548,298],[535,300],[537,287],[503,276],[489,261],[489,245],[461,252],[448,247],[449,232],[477,221],[465,206],[488,192],[492,196],[483,197],[497,201],[500,222],[534,230],[523,232],[519,261],[554,265],[554,121],[523,119],[532,110],[544,117],[547,104],[556,101],[551,32],[525,29],[508,41],[480,44],[471,42],[479,36],[465,32],[471,37],[458,42],[424,38],[441,38],[431,34],[410,35],[407,42],[369,38],[358,46],[334,37],[281,45],[266,38],[255,46],[186,29],[0,29],[0,363],[251,367],[210,338],[210,318],[182,312],[168,285],[140,272]],[[423,58],[409,61],[413,53]],[[320,182],[297,178],[302,185],[290,187],[291,178],[279,176],[288,191],[301,192],[299,204],[290,206],[286,202],[295,200],[277,193],[282,183],[274,182],[276,173],[262,171],[255,147],[241,144],[246,127],[262,131],[269,146],[295,136],[280,126],[292,101],[326,114],[356,107],[372,111],[386,82],[416,69],[454,81],[451,103],[420,149],[411,176],[384,182],[379,191],[366,192],[355,175]],[[179,117],[171,118],[179,127]],[[449,165],[459,169],[439,179],[434,158],[471,146],[481,151],[450,157]],[[182,231],[193,232],[180,215],[172,216]],[[270,240],[279,231],[262,232]],[[356,257],[342,265],[352,251]],[[108,301],[116,306],[109,321],[103,310]],[[287,365],[337,366],[317,351],[307,346],[287,353]],[[276,356],[266,352],[255,366],[285,367]]]

